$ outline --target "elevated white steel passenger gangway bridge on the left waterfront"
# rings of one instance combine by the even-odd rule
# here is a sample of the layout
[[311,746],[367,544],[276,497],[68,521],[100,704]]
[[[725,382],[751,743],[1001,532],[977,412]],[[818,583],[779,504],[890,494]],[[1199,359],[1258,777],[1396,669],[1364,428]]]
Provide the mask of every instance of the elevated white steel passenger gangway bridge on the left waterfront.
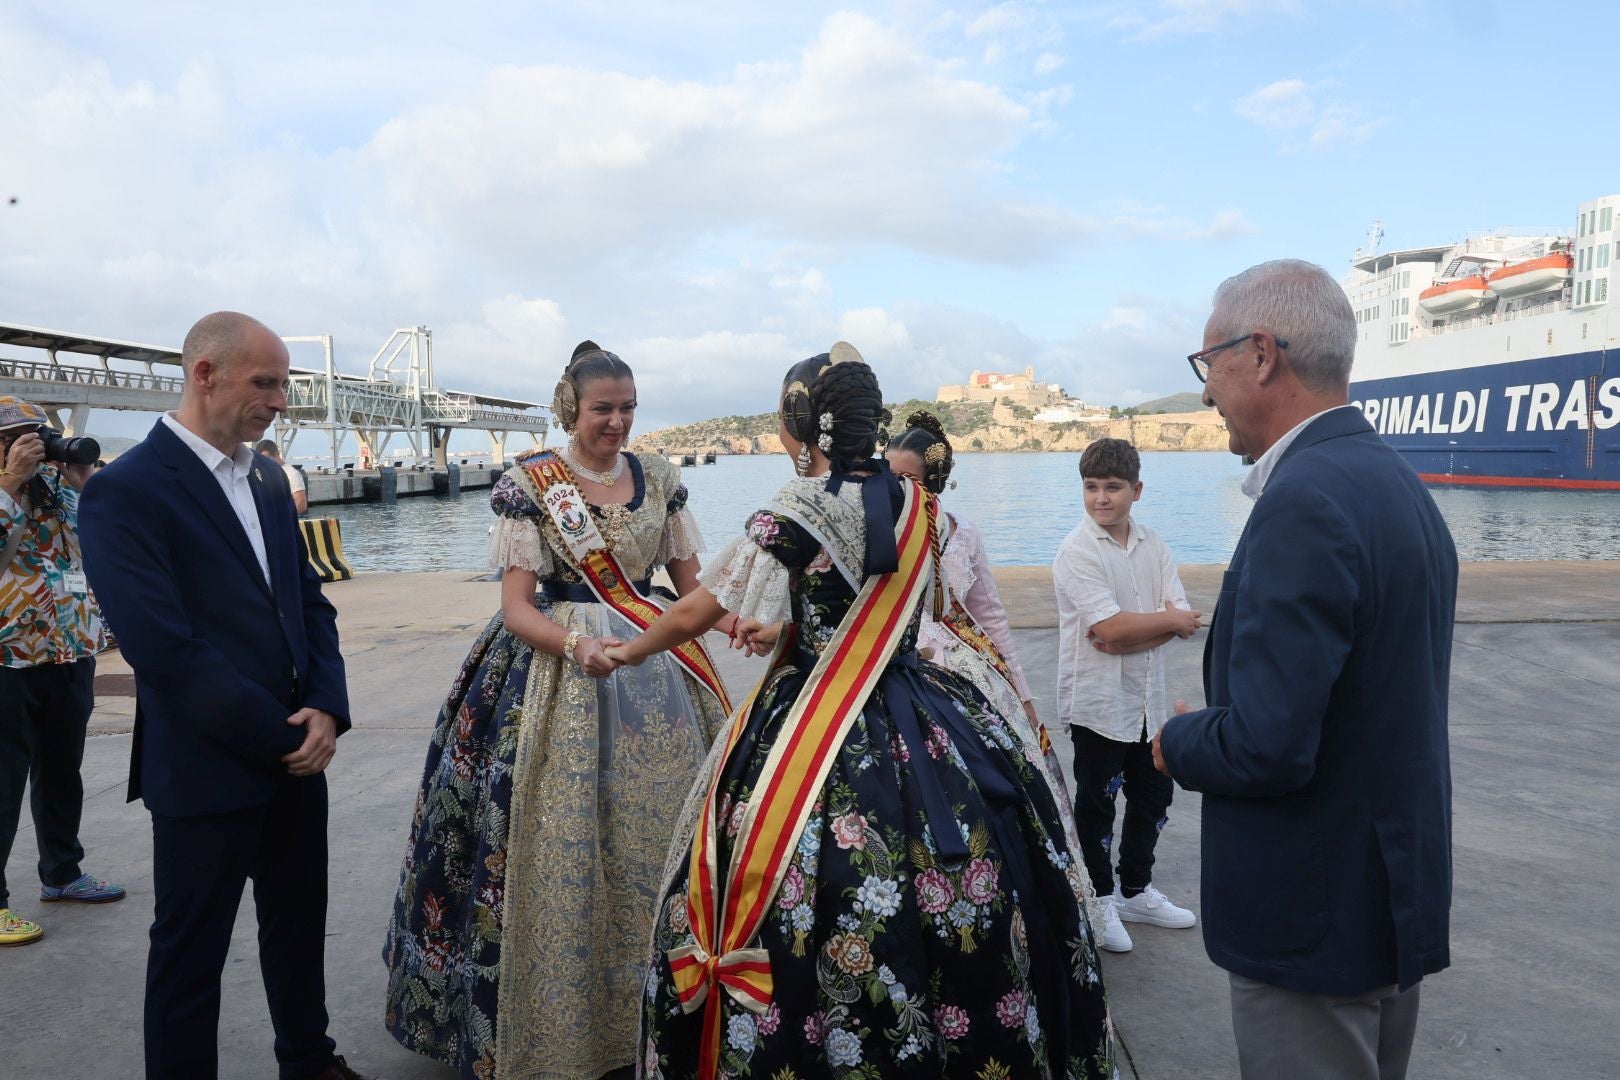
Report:
[[[416,461],[431,457],[444,468],[449,436],[457,427],[484,431],[496,465],[505,463],[505,442],[514,434],[530,436],[535,445],[546,444],[551,413],[543,405],[439,390],[428,327],[394,330],[364,376],[337,371],[330,335],[284,340],[293,347],[318,345],[322,359],[319,369],[292,369],[287,415],[275,424],[284,453],[303,431],[326,436],[334,468],[347,434],[355,436],[361,466],[381,463],[400,436]],[[0,345],[45,353],[45,359],[0,356],[0,395],[34,402],[65,434],[83,434],[92,408],[162,413],[180,405],[185,379],[177,348],[15,324],[0,324]]]

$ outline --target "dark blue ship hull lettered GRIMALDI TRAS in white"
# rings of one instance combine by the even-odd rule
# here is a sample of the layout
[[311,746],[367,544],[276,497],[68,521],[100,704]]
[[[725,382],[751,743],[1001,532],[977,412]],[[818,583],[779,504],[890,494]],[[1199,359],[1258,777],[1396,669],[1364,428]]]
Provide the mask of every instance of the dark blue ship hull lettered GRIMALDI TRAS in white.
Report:
[[1351,402],[1430,484],[1620,491],[1605,350],[1366,379]]

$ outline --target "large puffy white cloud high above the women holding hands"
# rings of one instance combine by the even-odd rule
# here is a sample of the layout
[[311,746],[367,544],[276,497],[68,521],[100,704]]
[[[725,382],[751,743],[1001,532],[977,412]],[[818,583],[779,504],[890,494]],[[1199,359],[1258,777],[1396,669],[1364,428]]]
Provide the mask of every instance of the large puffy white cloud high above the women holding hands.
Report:
[[496,264],[716,228],[1025,262],[1084,238],[1064,207],[1032,215],[993,183],[1038,121],[901,32],[834,15],[797,62],[710,83],[501,68],[389,121],[363,157],[395,214]]

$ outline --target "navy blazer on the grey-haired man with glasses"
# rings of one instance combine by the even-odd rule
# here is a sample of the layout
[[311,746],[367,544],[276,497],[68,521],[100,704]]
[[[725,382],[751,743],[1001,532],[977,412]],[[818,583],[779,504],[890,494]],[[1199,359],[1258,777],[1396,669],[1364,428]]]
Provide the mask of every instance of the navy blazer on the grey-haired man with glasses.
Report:
[[1314,994],[1450,962],[1456,547],[1359,411],[1312,421],[1256,500],[1165,763],[1204,793],[1204,946]]

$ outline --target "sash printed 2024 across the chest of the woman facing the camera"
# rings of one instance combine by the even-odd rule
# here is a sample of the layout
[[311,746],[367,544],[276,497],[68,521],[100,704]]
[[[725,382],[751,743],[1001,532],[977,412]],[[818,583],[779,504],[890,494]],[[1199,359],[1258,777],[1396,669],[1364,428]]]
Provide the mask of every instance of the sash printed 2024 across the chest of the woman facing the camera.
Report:
[[[637,630],[646,630],[653,620],[664,614],[664,604],[651,596],[637,591],[630,575],[619,565],[617,557],[608,549],[591,518],[591,510],[580,494],[573,473],[551,450],[533,457],[520,458],[523,471],[539,489],[539,505],[551,517],[562,542],[585,578],[585,585],[603,604],[630,620]],[[721,682],[714,661],[710,657],[703,641],[687,641],[669,651],[688,675],[698,680],[705,690],[714,695],[719,706],[731,712],[731,699],[726,696],[726,683]]]

